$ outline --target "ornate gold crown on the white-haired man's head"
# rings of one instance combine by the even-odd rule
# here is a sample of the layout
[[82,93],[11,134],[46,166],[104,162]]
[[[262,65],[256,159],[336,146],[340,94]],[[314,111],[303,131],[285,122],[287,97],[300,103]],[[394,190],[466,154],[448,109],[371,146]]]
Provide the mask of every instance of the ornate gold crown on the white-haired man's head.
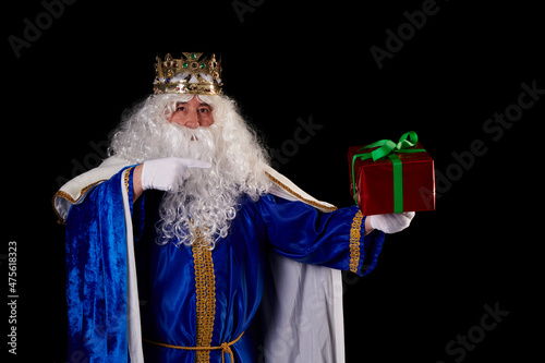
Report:
[[221,60],[216,56],[203,58],[203,53],[182,52],[182,59],[165,60],[158,56],[155,63],[155,94],[221,95]]

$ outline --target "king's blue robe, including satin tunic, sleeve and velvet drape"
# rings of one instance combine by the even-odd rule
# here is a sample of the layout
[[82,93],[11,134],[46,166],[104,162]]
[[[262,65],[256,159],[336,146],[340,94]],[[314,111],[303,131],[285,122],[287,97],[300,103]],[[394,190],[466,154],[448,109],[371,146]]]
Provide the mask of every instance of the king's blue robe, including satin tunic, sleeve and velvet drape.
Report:
[[[66,219],[69,359],[76,354],[89,362],[129,360],[121,176],[119,172],[97,185],[83,203],[72,206]],[[132,198],[130,178],[126,187]],[[160,197],[160,192],[145,192],[131,210],[142,335],[150,341],[144,342],[146,362],[221,362],[220,350],[196,353],[155,342],[219,347],[243,332],[231,346],[234,361],[255,362],[256,343],[249,331],[262,300],[268,253],[342,270],[351,269],[352,262],[352,269],[355,265],[356,273],[363,276],[375,266],[384,241],[378,231],[364,237],[363,217],[356,233],[361,237],[355,241],[358,249],[354,241],[351,245],[356,206],[322,213],[302,202],[270,194],[257,202],[242,197],[229,235],[209,252],[211,267],[198,273],[204,265],[197,263],[194,247],[155,243]],[[205,276],[205,288],[196,283],[197,273]],[[214,312],[197,317],[198,306],[204,306],[203,293],[205,300],[214,301],[211,307],[206,305],[207,312]],[[203,337],[204,341],[198,340]],[[229,362],[228,354],[225,359]]]

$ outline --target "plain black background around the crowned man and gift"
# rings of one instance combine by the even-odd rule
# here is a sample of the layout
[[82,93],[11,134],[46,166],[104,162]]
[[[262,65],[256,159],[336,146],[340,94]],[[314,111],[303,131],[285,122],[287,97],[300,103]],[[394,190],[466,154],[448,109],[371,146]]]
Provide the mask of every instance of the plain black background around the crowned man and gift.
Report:
[[[535,356],[545,95],[500,136],[483,126],[517,105],[522,83],[545,88],[544,22],[536,2],[438,0],[379,69],[370,49],[386,49],[386,31],[403,29],[403,13],[424,3],[76,1],[50,22],[40,1],[5,3],[0,262],[7,298],[8,245],[16,241],[19,293],[10,359],[68,361],[64,228],[51,197],[60,181],[97,165],[122,111],[150,93],[156,55],[181,51],[221,55],[225,92],[271,150],[293,140],[298,119],[322,126],[279,167],[318,199],[353,203],[349,146],[414,130],[435,159],[436,211],[388,235],[371,275],[343,275],[348,362]],[[43,29],[16,57],[9,37],[24,38],[25,19],[41,20]],[[468,155],[475,140],[486,153],[459,166],[452,153]],[[509,315],[463,355],[449,354],[458,336],[483,338],[484,305]]]

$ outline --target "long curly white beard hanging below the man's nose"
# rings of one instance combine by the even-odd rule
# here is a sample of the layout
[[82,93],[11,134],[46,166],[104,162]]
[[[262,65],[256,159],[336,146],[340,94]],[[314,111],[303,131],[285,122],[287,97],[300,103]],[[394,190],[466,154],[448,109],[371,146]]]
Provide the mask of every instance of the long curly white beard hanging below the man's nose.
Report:
[[159,244],[173,242],[191,244],[197,231],[202,243],[214,247],[219,238],[228,234],[230,221],[235,217],[235,205],[241,196],[240,182],[229,178],[237,166],[231,165],[220,152],[221,141],[217,125],[187,129],[169,124],[165,156],[208,161],[210,169],[191,169],[190,178],[178,192],[167,193],[159,208],[161,218],[157,226]]

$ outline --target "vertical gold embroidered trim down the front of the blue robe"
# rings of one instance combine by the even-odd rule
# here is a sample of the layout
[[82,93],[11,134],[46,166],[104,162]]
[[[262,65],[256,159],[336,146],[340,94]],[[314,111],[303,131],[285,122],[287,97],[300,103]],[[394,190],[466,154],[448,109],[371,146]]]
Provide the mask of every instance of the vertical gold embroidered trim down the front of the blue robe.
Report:
[[[196,347],[210,347],[214,330],[214,315],[216,313],[216,276],[211,251],[203,245],[203,238],[197,231],[197,239],[193,242],[193,261],[195,265],[196,288]],[[209,350],[197,350],[195,362],[210,361]]]

